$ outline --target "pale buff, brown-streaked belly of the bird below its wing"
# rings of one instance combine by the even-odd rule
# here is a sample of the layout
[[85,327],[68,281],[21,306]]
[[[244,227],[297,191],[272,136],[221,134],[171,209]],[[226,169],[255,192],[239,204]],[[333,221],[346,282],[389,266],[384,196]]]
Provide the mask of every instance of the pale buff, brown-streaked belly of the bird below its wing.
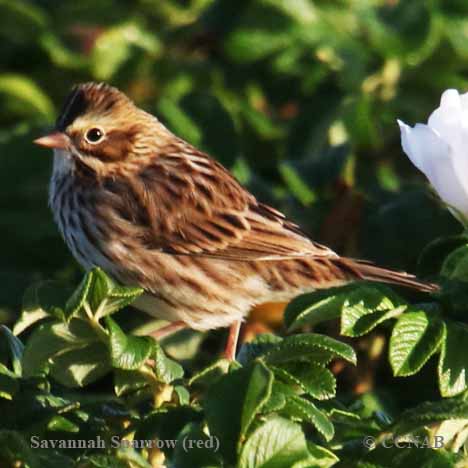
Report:
[[183,321],[196,330],[242,320],[267,288],[259,276],[227,262],[150,250],[137,261],[130,253],[124,255],[121,244],[108,247],[118,251],[117,262],[124,265],[118,279],[146,291],[135,307],[157,318]]

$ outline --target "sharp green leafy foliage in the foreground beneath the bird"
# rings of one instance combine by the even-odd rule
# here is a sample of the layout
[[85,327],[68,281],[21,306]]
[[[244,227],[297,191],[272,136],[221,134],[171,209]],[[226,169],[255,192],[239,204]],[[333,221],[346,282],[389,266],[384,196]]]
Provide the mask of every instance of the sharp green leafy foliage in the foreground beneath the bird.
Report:
[[[41,310],[42,316],[31,325],[26,343],[5,326],[0,335],[7,351],[0,363],[4,463],[150,467],[166,459],[181,467],[404,466],[415,456],[415,437],[424,437],[426,444],[445,441],[444,449],[426,449],[425,463],[452,466],[461,459],[456,452],[468,439],[468,392],[464,360],[453,348],[464,345],[464,328],[436,307],[444,291],[433,303],[416,306],[388,288],[356,285],[328,292],[335,307],[340,304],[334,314],[308,305],[300,311],[297,303],[286,313],[292,328],[294,315],[301,325],[309,317],[316,324],[316,310],[322,320],[341,315],[342,333],[352,337],[396,320],[389,358],[397,376],[417,373],[439,353],[441,392],[458,396],[421,403],[396,418],[384,408],[375,412],[365,400],[343,405],[329,366],[337,359],[355,365],[356,354],[327,335],[259,335],[242,346],[237,361],[211,363],[187,378],[158,342],[126,333],[111,317],[120,301],[127,304],[141,291],[115,285],[99,269],[87,273],[68,299],[57,289],[60,307],[50,305],[51,290],[41,296],[40,288],[31,289],[28,298],[31,291],[37,303],[31,309],[31,300],[25,301],[28,309],[16,328],[24,335],[28,314]],[[346,297],[336,300],[342,294]],[[317,294],[304,296],[301,304],[306,297],[329,307]],[[388,313],[392,310],[397,312]],[[370,320],[374,314],[378,318]],[[90,388],[109,374],[111,389],[96,395],[72,391]],[[382,452],[388,434],[409,440],[404,453]],[[367,451],[363,440],[369,436],[374,446],[368,448],[374,450]],[[77,438],[91,446],[76,447],[70,455],[66,444]],[[50,445],[54,440],[62,446]]]

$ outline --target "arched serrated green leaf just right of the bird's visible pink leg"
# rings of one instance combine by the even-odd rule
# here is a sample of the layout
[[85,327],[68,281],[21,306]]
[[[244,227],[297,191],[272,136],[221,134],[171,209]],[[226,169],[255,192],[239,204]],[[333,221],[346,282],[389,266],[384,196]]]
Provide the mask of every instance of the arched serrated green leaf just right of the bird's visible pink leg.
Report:
[[267,352],[264,359],[272,364],[297,360],[328,363],[333,356],[356,364],[356,353],[351,346],[316,333],[289,336]]

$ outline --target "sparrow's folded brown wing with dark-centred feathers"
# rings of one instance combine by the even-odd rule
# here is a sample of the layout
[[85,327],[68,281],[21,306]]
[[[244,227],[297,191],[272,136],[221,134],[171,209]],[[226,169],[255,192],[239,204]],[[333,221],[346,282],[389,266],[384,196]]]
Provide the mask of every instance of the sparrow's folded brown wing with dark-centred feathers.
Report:
[[219,163],[182,148],[158,154],[134,178],[132,199],[151,225],[147,248],[237,261],[336,257],[259,203]]

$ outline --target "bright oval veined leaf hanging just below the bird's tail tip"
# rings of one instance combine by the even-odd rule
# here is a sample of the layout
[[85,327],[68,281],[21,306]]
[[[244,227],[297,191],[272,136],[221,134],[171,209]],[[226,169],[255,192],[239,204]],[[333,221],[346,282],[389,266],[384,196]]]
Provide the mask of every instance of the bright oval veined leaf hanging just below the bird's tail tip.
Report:
[[445,324],[438,314],[424,310],[403,314],[390,338],[390,364],[396,376],[417,373],[439,350],[445,337]]

